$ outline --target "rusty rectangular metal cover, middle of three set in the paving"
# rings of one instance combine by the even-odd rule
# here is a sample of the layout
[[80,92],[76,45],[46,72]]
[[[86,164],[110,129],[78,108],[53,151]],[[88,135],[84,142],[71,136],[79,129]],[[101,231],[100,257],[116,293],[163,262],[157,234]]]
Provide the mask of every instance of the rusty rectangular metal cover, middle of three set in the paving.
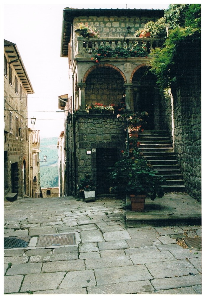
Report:
[[75,234],[44,234],[39,235],[36,246],[46,247],[46,246],[64,246],[69,244],[75,244]]

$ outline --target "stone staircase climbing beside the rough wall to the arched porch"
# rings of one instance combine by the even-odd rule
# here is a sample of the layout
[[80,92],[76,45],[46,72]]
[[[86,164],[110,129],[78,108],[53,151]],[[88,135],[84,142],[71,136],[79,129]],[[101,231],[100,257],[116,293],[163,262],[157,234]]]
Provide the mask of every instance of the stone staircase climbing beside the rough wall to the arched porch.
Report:
[[173,152],[172,143],[166,131],[144,130],[139,134],[140,149],[146,159],[164,176],[164,192],[185,192],[185,185]]

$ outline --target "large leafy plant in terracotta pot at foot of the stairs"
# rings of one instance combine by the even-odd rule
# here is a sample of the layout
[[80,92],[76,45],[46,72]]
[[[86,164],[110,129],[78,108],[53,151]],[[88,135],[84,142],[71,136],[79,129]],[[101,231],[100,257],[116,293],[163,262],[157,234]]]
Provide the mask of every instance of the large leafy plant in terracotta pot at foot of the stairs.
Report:
[[156,197],[164,196],[161,184],[165,179],[157,175],[140,152],[138,149],[140,143],[137,139],[130,139],[128,144],[129,155],[122,151],[123,158],[115,163],[110,173],[113,184],[110,191],[124,196],[129,195],[132,211],[143,211],[146,197],[155,200]]

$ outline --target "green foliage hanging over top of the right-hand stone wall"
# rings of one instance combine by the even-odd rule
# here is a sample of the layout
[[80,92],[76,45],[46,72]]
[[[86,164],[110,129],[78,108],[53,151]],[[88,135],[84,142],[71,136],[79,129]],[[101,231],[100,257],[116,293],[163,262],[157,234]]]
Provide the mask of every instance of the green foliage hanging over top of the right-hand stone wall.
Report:
[[[189,71],[195,70],[200,65],[201,56],[201,28],[197,26],[201,19],[198,4],[171,4],[169,7],[165,15],[172,20],[175,28],[170,30],[163,48],[156,48],[150,54],[151,72],[156,74],[161,91],[174,86],[174,83],[183,83],[188,68]],[[198,19],[195,19],[192,26],[193,11]],[[172,13],[175,14],[172,16]],[[190,26],[179,26],[186,24]]]

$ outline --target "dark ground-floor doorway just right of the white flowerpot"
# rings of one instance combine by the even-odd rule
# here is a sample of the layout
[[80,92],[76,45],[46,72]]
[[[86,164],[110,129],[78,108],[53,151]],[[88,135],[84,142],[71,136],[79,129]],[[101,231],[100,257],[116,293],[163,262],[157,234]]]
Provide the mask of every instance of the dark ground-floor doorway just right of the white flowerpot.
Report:
[[109,168],[117,162],[117,148],[96,148],[97,194],[109,194]]

